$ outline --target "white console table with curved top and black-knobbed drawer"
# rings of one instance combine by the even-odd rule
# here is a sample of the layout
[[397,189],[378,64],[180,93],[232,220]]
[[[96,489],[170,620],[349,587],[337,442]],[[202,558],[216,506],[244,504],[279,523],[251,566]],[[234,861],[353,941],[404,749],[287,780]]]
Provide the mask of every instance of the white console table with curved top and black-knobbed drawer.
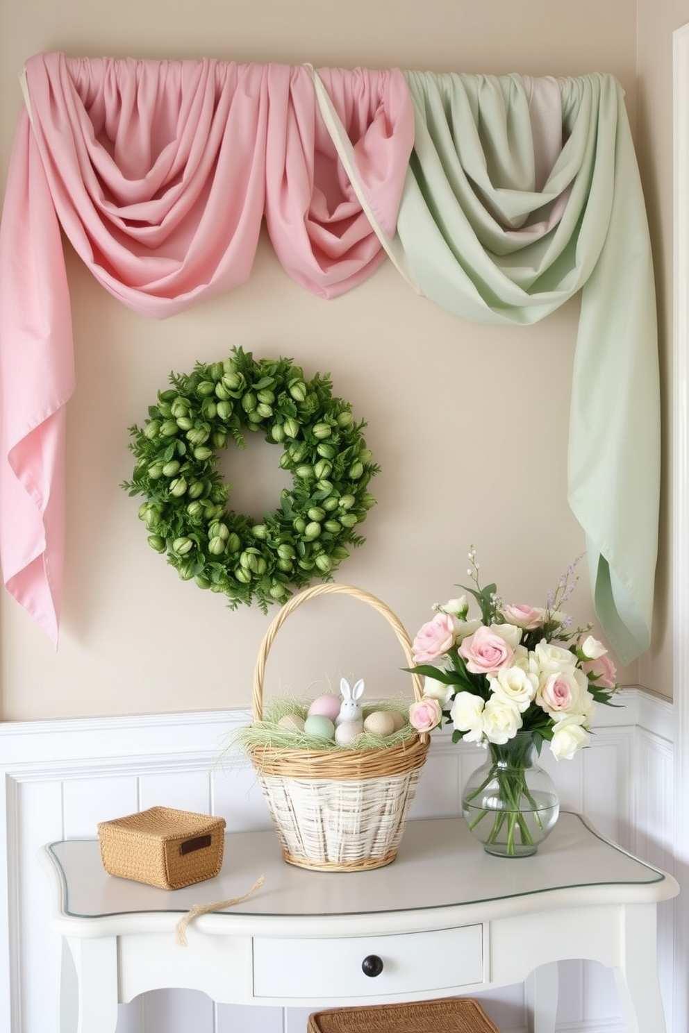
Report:
[[[678,884],[575,814],[513,859],[484,853],[462,819],[411,821],[392,865],[355,873],[294,868],[274,833],[234,833],[220,875],[178,890],[108,876],[97,840],[51,843],[42,859],[65,949],[61,1033],[114,1033],[119,1002],[163,987],[316,1010],[529,978],[533,1029],[553,1033],[555,963],[570,958],[615,971],[627,1033],[665,1030],[656,905]],[[194,904],[240,897],[259,875],[252,897],[197,917],[188,945],[176,943]]]

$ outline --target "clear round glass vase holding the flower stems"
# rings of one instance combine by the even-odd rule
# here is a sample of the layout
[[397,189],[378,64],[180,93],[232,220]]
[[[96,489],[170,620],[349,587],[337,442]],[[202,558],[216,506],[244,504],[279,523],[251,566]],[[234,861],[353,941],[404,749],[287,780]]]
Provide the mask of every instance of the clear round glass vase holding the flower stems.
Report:
[[553,779],[538,763],[530,731],[489,743],[488,758],[467,779],[462,810],[488,853],[528,857],[552,832],[560,804]]

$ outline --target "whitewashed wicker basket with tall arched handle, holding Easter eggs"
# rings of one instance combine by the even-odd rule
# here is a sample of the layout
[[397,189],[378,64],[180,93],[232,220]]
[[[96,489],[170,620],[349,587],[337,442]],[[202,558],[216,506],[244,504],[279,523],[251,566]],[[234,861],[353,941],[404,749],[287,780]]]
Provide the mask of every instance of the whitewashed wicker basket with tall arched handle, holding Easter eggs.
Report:
[[[385,603],[350,585],[315,585],[292,596],[263,636],[254,670],[254,721],[262,717],[265,660],[278,630],[302,603],[336,593],[382,614],[413,665],[409,636]],[[414,697],[420,699],[424,681],[411,677]],[[379,749],[248,747],[284,859],[333,872],[381,868],[395,860],[428,749],[428,734],[418,733]]]

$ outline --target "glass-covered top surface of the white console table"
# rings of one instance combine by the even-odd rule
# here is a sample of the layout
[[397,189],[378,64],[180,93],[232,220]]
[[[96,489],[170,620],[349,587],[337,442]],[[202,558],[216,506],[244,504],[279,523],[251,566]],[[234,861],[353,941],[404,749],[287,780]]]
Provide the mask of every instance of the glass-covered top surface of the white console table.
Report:
[[[663,872],[633,857],[591,827],[562,812],[532,857],[493,857],[462,818],[409,821],[397,858],[362,872],[320,872],[282,859],[274,832],[229,833],[223,866],[214,879],[183,889],[158,889],[108,875],[97,839],[61,840],[46,846],[62,884],[62,911],[79,918],[142,912],[184,913],[194,904],[259,891],[231,908],[244,915],[373,914],[486,903],[594,886],[661,883]],[[660,897],[661,895],[659,895]]]

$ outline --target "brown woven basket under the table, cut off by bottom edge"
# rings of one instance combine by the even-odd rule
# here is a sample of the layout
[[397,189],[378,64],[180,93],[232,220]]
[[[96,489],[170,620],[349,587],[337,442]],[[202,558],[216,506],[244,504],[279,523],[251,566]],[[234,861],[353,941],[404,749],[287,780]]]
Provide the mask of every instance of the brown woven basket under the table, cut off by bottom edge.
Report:
[[307,1033],[500,1033],[478,1001],[451,997],[315,1011],[306,1029]]

